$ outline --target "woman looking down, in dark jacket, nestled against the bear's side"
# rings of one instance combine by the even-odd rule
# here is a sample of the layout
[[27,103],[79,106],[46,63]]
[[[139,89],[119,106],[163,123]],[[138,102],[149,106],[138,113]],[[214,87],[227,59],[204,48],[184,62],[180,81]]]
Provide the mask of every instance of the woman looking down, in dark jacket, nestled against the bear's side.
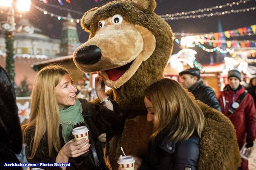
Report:
[[135,169],[197,170],[204,116],[194,99],[176,81],[162,79],[145,90],[144,102],[154,133],[149,159],[135,157]]

